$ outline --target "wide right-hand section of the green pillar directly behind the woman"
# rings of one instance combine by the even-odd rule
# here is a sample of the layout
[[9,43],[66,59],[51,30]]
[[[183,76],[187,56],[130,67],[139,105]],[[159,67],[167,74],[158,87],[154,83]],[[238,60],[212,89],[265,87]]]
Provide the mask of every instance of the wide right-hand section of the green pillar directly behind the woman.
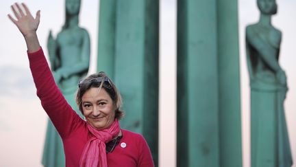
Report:
[[158,165],[158,0],[116,5],[114,75],[125,129],[142,133]]

